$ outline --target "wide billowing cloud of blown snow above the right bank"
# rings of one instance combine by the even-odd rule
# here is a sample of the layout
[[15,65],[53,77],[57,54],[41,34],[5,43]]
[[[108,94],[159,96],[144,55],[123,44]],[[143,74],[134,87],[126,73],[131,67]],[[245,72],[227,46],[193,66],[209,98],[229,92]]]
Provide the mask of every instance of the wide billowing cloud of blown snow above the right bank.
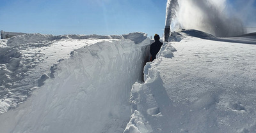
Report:
[[226,0],[180,0],[177,13],[178,28],[198,29],[217,37],[244,34],[242,20],[236,17],[234,12],[228,13],[228,10]]

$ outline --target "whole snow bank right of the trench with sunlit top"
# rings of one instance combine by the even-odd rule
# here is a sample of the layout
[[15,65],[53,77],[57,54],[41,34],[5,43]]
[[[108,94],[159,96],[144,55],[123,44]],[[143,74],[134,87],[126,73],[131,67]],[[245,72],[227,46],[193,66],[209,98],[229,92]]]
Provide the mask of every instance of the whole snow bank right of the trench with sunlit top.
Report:
[[146,64],[145,83],[133,85],[125,133],[256,132],[256,45],[179,37]]

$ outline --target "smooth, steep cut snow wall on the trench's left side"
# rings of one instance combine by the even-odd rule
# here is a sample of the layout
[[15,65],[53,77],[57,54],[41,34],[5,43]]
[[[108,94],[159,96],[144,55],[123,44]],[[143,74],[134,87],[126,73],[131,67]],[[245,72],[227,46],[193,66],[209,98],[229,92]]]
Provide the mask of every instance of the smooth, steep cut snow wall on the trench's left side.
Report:
[[118,38],[89,38],[90,45],[60,59],[24,104],[0,115],[1,132],[123,132],[150,39],[141,33]]

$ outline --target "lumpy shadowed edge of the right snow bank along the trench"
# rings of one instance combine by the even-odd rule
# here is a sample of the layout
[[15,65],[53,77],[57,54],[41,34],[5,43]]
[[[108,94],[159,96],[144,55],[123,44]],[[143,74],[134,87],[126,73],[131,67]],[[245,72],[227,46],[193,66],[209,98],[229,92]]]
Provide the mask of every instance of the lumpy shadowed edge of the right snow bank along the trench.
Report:
[[[175,51],[170,43],[164,42],[157,58],[172,59]],[[125,128],[125,133],[169,132],[168,127],[174,124],[168,122],[168,119],[173,117],[171,113],[173,106],[156,68],[159,62],[159,60],[147,62],[144,67],[145,83],[135,83],[132,87],[130,102],[133,114]]]

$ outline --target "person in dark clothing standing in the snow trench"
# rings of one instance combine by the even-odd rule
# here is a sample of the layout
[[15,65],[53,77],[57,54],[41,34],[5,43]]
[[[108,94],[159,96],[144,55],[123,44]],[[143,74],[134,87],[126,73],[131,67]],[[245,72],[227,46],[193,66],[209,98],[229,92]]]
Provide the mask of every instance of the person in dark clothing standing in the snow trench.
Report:
[[150,59],[150,61],[156,59],[156,54],[159,52],[161,46],[163,45],[163,43],[159,41],[160,36],[158,34],[155,34],[154,39],[155,42],[150,45],[150,54],[152,55],[152,60]]

